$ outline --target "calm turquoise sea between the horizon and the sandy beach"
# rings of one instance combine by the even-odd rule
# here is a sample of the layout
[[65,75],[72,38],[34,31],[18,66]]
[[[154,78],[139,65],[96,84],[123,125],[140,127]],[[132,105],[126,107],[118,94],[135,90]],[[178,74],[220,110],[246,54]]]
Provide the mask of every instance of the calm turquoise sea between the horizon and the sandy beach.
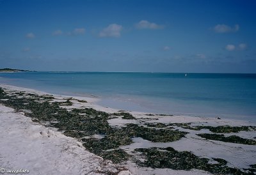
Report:
[[63,95],[97,95],[124,110],[256,121],[256,74],[1,73],[0,83]]

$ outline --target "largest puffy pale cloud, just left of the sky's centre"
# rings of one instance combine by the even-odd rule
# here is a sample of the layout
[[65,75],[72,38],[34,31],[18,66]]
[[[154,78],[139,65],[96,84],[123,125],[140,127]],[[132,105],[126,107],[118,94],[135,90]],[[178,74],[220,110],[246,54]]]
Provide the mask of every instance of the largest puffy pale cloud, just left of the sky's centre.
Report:
[[110,24],[108,27],[100,31],[100,37],[119,37],[123,27],[118,24]]

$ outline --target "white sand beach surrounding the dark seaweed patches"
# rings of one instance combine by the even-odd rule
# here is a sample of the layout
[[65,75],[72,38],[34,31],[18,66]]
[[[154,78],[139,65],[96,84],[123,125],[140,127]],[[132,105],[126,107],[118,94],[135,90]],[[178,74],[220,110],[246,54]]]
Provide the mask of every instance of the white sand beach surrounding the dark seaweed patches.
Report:
[[[45,95],[49,93],[34,89],[18,88],[0,84],[6,91],[26,91]],[[54,100],[63,100],[70,96],[54,95]],[[22,97],[20,97],[22,98]],[[87,103],[71,100],[72,106],[67,109],[93,107],[104,112],[116,112],[118,109],[110,109],[97,105],[98,98],[78,97],[77,100],[86,100]],[[193,125],[207,126],[255,126],[249,121],[231,119],[200,118],[189,116],[148,116],[143,112],[130,112],[134,119],[122,119],[121,117],[109,119],[111,126],[120,127],[126,123],[193,123]],[[209,172],[192,169],[191,171],[175,171],[172,169],[150,169],[138,167],[132,161],[122,165],[112,164],[109,160],[103,160],[100,156],[86,151],[81,142],[63,133],[56,128],[47,128],[31,121],[24,116],[24,112],[16,112],[10,107],[0,105],[0,165],[7,170],[26,169],[29,174],[209,174]],[[188,130],[173,126],[179,130],[189,132],[186,137],[174,142],[150,142],[140,137],[133,138],[132,144],[121,146],[131,153],[135,148],[166,148],[172,147],[177,151],[191,151],[196,156],[204,158],[223,158],[228,161],[229,167],[248,168],[256,162],[256,148],[254,145],[236,144],[231,142],[209,141],[196,135],[196,133],[211,133],[209,130]],[[230,133],[225,133],[230,135]],[[254,139],[256,131],[241,131],[236,133],[245,139]],[[97,137],[95,135],[95,137]],[[212,160],[214,163],[214,160]],[[212,164],[213,164],[212,163]],[[129,170],[122,169],[126,167]]]

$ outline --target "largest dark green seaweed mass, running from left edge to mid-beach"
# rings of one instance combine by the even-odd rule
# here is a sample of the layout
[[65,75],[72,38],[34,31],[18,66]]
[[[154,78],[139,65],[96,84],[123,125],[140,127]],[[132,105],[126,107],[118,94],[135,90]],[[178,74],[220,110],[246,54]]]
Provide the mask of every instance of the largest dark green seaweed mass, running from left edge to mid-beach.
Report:
[[[0,98],[8,99],[1,101],[4,105],[17,111],[22,109],[30,110],[31,112],[24,113],[33,121],[58,128],[59,131],[67,136],[81,139],[85,148],[97,155],[112,158],[111,160],[114,162],[122,160],[114,157],[125,155],[125,151],[118,149],[118,147],[131,144],[133,137],[141,137],[152,142],[172,142],[178,141],[187,133],[170,129],[159,130],[136,124],[127,124],[121,128],[115,128],[108,123],[108,119],[113,118],[113,116],[122,116],[124,119],[136,118],[128,112],[108,114],[107,112],[85,107],[72,110],[62,108],[61,106],[72,105],[70,100],[73,99],[71,98],[66,98],[65,102],[54,102],[54,97],[51,95],[37,95],[25,92],[9,92],[8,94],[11,95],[7,95],[2,88],[0,89]],[[22,96],[22,98],[17,98],[17,96]],[[93,138],[95,134],[104,135],[104,137],[95,139]],[[83,139],[84,137],[91,138]],[[116,150],[108,151],[109,149]],[[125,157],[129,156],[125,155]]]

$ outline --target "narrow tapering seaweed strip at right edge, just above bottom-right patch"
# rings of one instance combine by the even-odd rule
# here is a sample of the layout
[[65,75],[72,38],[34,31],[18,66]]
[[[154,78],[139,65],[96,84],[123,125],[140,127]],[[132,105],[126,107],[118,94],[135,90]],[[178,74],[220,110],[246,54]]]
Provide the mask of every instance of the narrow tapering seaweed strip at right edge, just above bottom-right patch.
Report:
[[205,139],[214,140],[214,141],[232,142],[237,144],[249,144],[249,145],[256,144],[256,141],[252,139],[244,139],[244,138],[238,137],[237,135],[231,135],[228,137],[225,137],[225,135],[223,134],[216,134],[216,133],[198,133],[196,135],[203,137]]

